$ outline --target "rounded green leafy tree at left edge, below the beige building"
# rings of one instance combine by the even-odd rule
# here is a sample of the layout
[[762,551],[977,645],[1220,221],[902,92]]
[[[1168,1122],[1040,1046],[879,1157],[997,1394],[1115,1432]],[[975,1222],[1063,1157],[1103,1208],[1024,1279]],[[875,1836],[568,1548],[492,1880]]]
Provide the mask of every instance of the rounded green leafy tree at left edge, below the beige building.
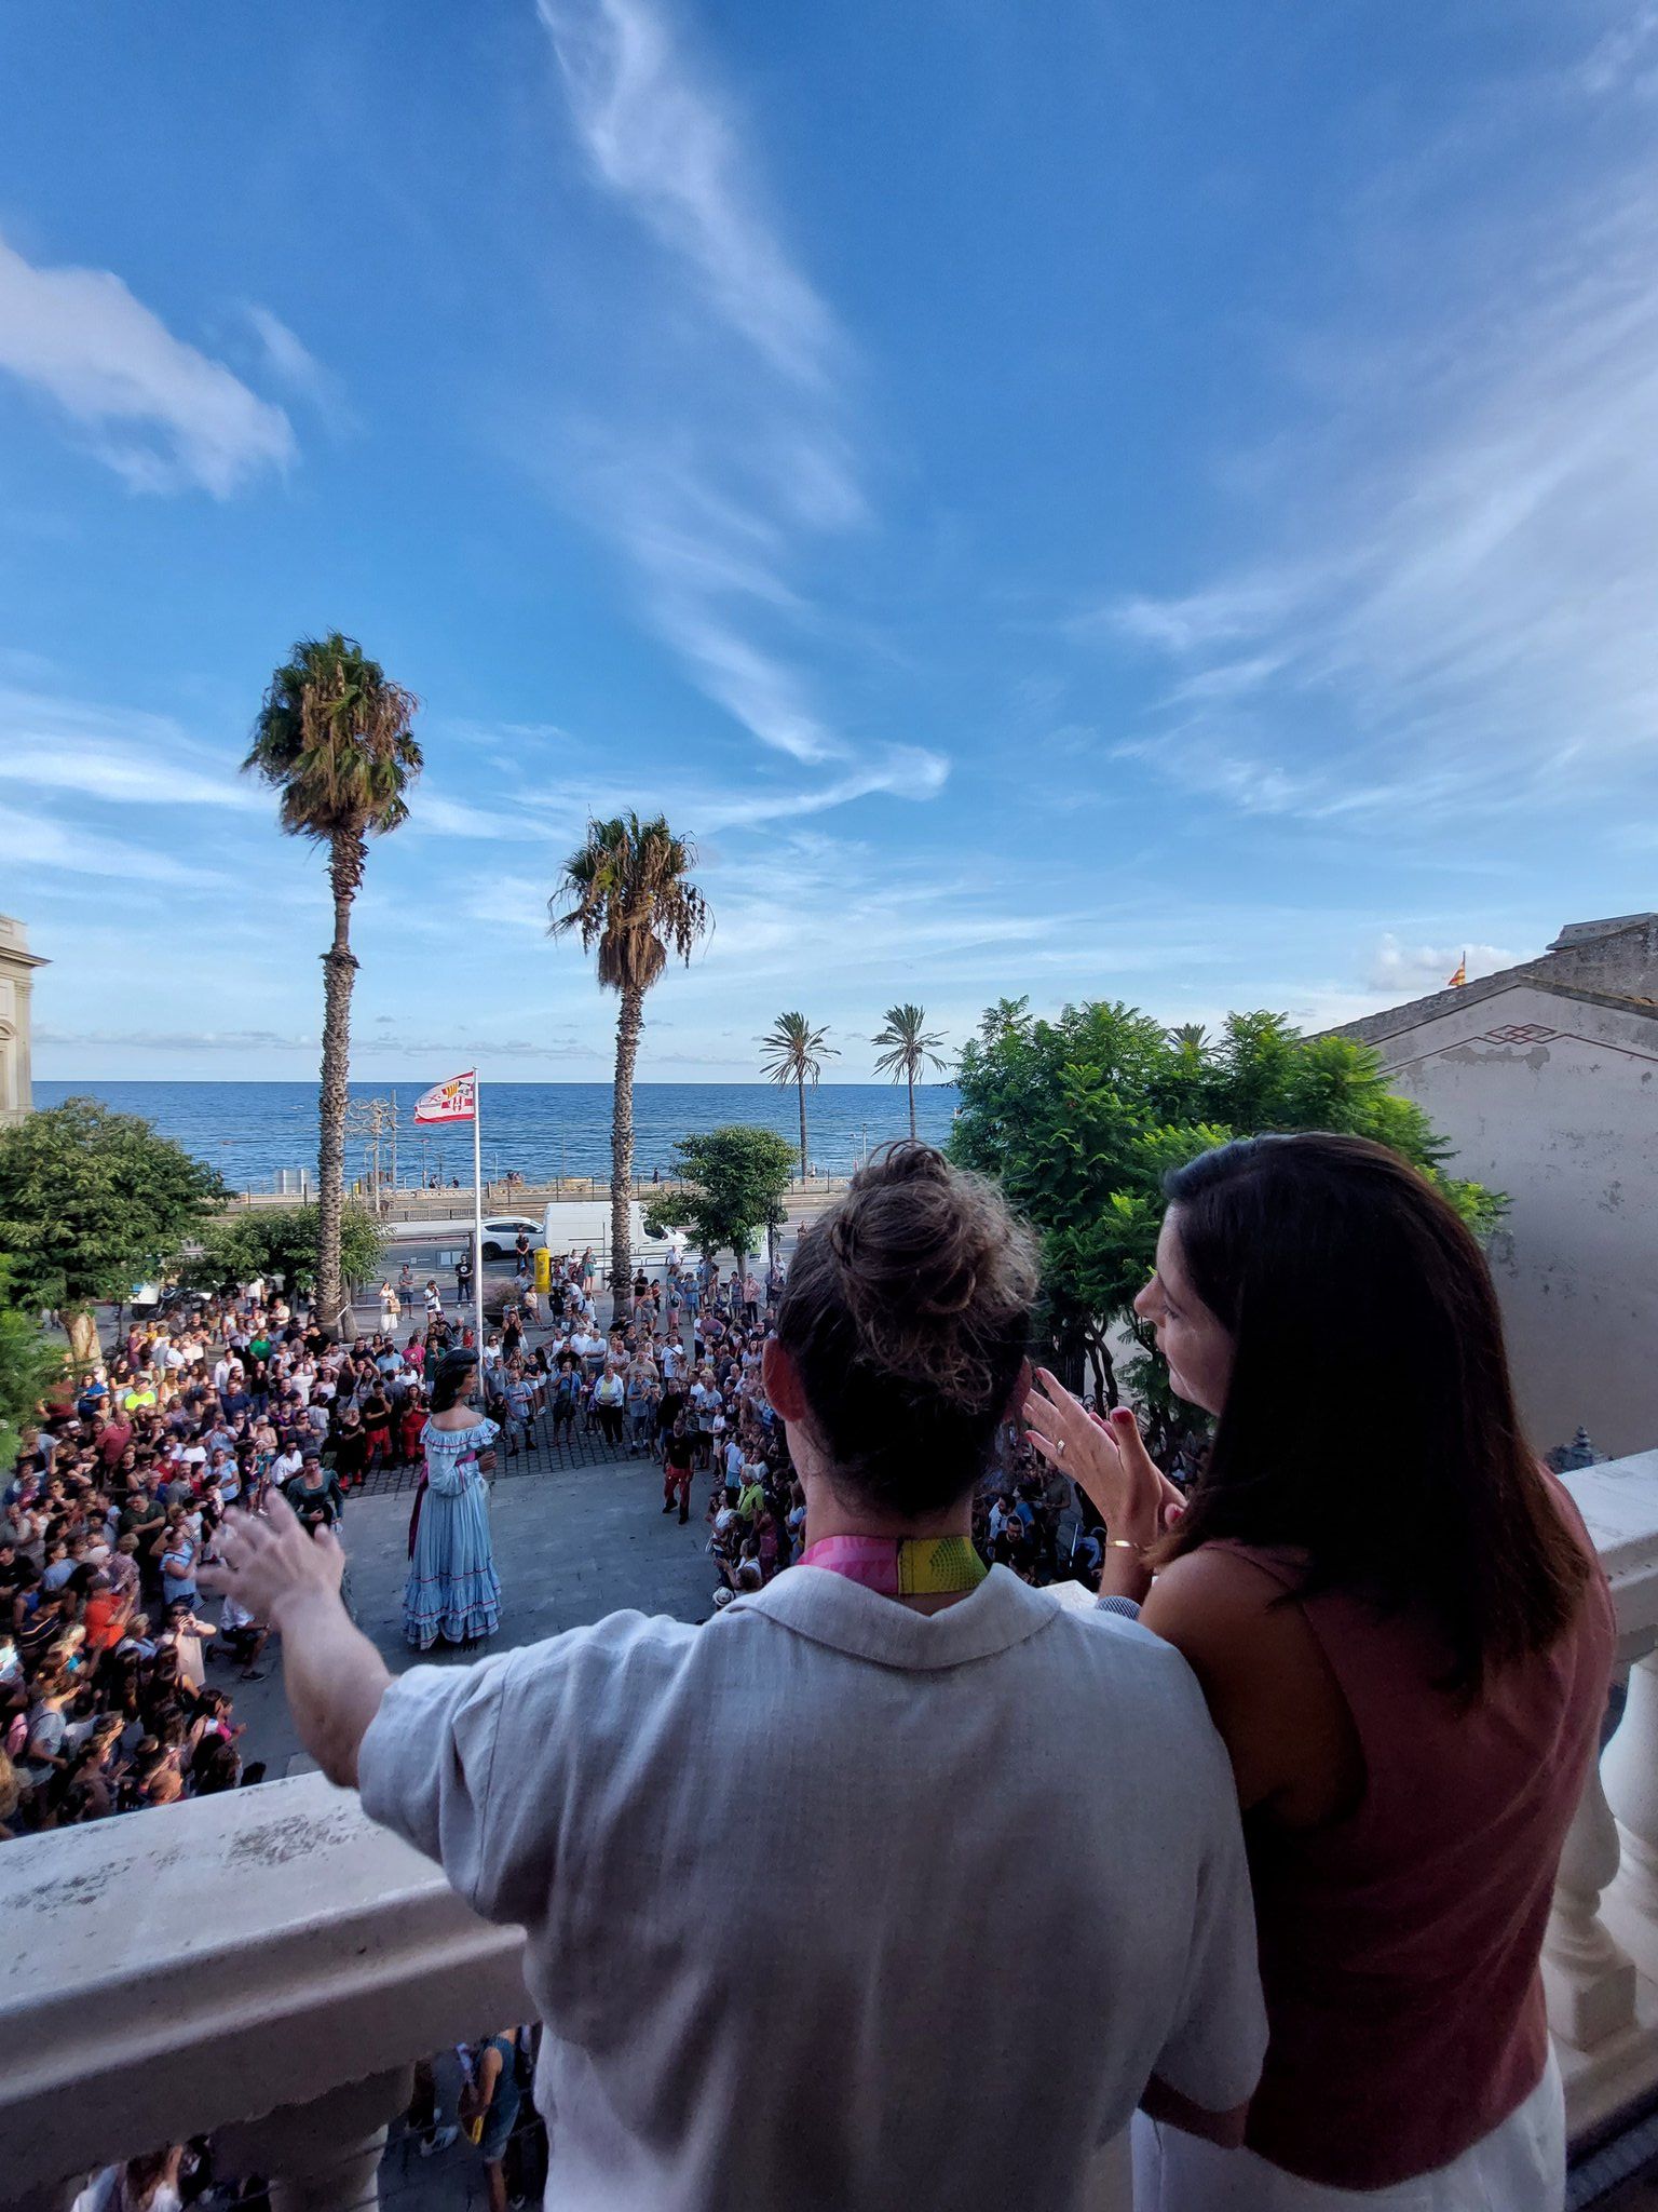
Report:
[[159,1274],[221,1197],[212,1168],[137,1115],[99,1099],[33,1113],[0,1130],[0,1254],[11,1298],[27,1312],[55,1312],[84,1365],[97,1356],[93,1307]]

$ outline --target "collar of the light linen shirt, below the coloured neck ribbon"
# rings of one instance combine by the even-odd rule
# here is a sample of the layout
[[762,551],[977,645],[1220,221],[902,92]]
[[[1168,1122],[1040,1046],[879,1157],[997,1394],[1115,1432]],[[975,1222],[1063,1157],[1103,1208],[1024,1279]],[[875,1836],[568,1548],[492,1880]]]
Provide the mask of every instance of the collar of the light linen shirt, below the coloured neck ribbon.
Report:
[[1010,1650],[1057,1619],[1061,1606],[1006,1566],[993,1566],[977,1590],[940,1613],[915,1613],[820,1566],[791,1566],[763,1590],[736,1597],[710,1626],[745,1613],[763,1613],[853,1659],[928,1672]]

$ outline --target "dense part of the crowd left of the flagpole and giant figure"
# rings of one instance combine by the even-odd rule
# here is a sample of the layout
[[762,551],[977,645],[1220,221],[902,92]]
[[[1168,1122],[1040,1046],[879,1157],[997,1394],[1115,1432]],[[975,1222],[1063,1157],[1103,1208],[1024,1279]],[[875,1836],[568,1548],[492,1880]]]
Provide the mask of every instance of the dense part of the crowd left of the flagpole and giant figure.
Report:
[[259,1679],[267,1626],[199,1573],[272,1491],[338,1528],[378,1467],[416,1460],[424,1363],[424,1336],[336,1345],[254,1281],[133,1323],[42,1405],[0,1493],[0,1836],[263,1774],[232,1686]]

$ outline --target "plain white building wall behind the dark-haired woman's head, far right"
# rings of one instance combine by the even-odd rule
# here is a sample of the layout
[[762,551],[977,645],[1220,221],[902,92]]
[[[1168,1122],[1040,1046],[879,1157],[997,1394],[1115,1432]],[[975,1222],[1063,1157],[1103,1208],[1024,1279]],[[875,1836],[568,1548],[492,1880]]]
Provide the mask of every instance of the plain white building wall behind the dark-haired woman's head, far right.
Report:
[[1517,984],[1379,1044],[1393,1088],[1505,1190],[1490,1261],[1539,1449],[1658,1436],[1658,1015]]

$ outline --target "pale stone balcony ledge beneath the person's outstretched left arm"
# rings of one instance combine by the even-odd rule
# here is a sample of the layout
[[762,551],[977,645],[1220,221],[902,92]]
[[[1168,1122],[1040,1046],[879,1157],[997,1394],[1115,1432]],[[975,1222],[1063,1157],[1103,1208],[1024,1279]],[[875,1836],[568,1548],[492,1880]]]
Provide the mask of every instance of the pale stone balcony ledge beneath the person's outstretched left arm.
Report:
[[321,1774],[2,1845],[0,1927],[7,2201],[531,2017],[522,1933]]

